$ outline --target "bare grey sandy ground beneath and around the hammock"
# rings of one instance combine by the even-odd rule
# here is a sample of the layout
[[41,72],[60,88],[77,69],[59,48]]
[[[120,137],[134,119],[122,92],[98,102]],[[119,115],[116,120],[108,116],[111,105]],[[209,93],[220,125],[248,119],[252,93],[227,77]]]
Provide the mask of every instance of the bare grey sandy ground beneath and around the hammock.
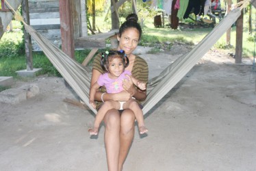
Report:
[[[150,77],[180,55],[141,55]],[[250,61],[245,61],[250,63]],[[256,170],[256,94],[250,65],[209,51],[136,127],[123,171]],[[255,76],[255,75],[254,75]],[[0,170],[107,170],[103,143],[88,135],[94,114],[64,102],[74,94],[56,77],[37,77],[40,94],[0,107]]]

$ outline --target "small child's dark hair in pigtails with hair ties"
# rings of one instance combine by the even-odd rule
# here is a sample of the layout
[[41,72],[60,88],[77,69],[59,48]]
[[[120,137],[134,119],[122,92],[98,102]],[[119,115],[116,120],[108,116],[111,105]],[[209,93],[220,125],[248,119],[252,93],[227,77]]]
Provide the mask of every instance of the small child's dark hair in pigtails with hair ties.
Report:
[[124,67],[126,68],[129,65],[129,59],[127,55],[125,55],[125,51],[105,51],[101,55],[101,68],[107,72],[109,70],[110,61],[114,58],[120,58],[122,60]]

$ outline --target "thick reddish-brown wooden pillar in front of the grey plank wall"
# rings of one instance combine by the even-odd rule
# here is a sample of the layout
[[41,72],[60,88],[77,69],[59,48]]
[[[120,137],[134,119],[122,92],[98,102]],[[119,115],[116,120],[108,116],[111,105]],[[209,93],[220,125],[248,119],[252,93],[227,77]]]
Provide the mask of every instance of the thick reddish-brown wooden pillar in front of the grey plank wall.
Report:
[[60,31],[62,35],[62,51],[71,58],[75,58],[75,40],[71,1],[59,0],[60,3]]

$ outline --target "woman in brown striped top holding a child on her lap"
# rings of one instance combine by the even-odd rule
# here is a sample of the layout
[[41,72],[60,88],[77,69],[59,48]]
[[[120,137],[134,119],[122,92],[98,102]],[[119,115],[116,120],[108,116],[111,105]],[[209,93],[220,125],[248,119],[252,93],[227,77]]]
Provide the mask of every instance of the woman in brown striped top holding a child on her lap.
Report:
[[[148,65],[142,58],[132,53],[138,46],[141,34],[142,29],[140,24],[138,24],[138,16],[136,14],[130,14],[127,16],[125,23],[120,26],[117,36],[119,42],[117,50],[125,51],[125,54],[129,58],[129,66],[125,70],[129,70],[136,79],[147,83],[149,75]],[[91,86],[99,79],[102,73],[104,71],[101,68],[101,55],[97,55],[92,68]],[[103,93],[105,89],[101,88],[101,91],[97,92],[94,97],[96,101],[101,102],[98,103],[98,109],[102,101],[128,101],[131,97],[136,98],[138,101],[144,101],[146,99],[146,91],[141,92],[136,89],[131,79],[125,79],[123,88],[126,91],[117,94]],[[123,163],[133,141],[134,120],[135,115],[131,109],[125,109],[123,111],[111,109],[105,114],[103,120],[105,123],[104,141],[109,171],[121,171],[123,169]]]

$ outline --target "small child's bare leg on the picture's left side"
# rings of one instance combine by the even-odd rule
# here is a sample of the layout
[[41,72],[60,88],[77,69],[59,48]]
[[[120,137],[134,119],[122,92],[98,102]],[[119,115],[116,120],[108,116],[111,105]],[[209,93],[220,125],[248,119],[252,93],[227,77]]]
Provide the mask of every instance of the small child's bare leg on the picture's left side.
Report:
[[109,111],[110,109],[119,109],[119,108],[120,108],[120,103],[118,103],[117,101],[105,101],[105,103],[101,106],[101,109],[99,109],[95,117],[93,128],[88,130],[90,135],[98,135],[99,126],[107,111]]

